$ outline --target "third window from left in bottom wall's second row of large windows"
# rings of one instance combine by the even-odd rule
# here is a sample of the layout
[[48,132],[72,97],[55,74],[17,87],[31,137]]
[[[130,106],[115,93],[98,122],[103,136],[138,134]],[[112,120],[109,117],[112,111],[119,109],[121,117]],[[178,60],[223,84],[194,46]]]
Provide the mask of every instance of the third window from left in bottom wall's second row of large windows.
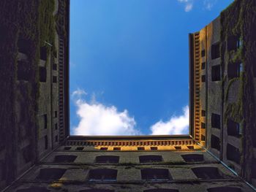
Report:
[[168,169],[141,169],[142,180],[170,180],[170,172]]

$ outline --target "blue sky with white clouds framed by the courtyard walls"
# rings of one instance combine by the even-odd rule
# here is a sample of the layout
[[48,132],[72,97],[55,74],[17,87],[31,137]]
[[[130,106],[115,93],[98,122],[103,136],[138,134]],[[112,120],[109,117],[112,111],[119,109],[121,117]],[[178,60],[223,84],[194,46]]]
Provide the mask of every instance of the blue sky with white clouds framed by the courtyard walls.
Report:
[[188,34],[233,0],[72,0],[71,134],[188,134]]

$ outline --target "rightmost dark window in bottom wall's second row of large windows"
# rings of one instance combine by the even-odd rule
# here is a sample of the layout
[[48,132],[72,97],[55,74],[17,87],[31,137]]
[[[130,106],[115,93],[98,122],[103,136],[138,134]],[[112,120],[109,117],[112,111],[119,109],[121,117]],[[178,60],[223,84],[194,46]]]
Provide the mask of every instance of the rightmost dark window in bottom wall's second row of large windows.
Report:
[[204,166],[204,167],[196,167],[192,168],[192,172],[197,176],[199,179],[203,180],[214,180],[214,179],[222,179],[224,178],[222,173],[219,172],[217,167],[211,166]]

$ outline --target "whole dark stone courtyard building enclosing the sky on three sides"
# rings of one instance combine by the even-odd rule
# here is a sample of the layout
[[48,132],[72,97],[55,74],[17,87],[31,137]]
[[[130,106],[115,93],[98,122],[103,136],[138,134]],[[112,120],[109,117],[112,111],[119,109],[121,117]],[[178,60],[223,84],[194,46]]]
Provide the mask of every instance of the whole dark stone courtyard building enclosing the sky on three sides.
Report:
[[75,137],[69,0],[1,1],[0,190],[256,191],[255,8],[189,34],[189,135]]

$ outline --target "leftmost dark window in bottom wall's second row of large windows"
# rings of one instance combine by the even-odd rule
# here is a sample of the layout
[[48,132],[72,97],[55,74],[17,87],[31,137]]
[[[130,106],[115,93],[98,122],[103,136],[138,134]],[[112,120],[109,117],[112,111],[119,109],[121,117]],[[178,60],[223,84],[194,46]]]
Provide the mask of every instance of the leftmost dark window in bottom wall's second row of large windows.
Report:
[[37,179],[39,180],[59,180],[62,175],[66,172],[66,169],[59,168],[45,168],[40,169]]

